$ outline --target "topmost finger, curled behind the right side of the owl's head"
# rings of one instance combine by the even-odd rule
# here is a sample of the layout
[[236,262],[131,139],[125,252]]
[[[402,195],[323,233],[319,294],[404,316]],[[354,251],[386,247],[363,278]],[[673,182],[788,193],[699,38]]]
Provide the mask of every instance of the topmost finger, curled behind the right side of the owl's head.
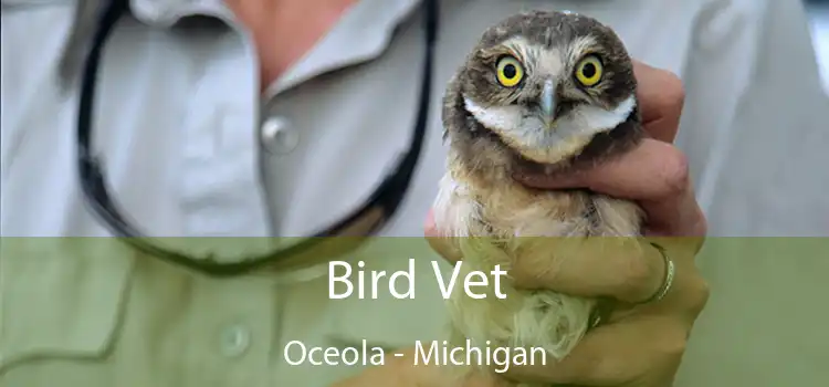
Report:
[[673,143],[685,103],[682,80],[639,61],[633,61],[633,73],[639,83],[637,100],[644,130],[655,139]]

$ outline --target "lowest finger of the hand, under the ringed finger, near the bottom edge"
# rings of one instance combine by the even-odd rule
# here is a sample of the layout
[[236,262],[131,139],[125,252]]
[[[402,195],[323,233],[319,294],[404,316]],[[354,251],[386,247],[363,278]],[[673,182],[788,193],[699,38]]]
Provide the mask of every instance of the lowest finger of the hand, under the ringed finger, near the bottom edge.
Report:
[[641,384],[642,377],[670,377],[679,367],[686,342],[685,324],[674,317],[636,316],[590,331],[559,362],[547,356],[544,364],[543,358],[536,358],[534,364],[511,366],[505,376],[579,386]]

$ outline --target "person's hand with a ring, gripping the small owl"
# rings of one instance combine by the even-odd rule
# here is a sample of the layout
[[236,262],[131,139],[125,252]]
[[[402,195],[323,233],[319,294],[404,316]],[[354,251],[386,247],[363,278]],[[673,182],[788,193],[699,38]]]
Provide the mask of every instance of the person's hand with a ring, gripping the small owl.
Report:
[[[646,236],[674,237],[654,240],[675,264],[672,287],[660,302],[634,304],[649,299],[664,282],[664,261],[649,244],[636,255],[587,253],[546,275],[516,262],[511,271],[516,285],[613,297],[619,305],[565,359],[544,367],[513,366],[507,377],[580,386],[670,386],[693,324],[707,302],[707,284],[694,264],[706,222],[694,198],[685,157],[671,144],[682,112],[682,83],[643,63],[637,62],[634,70],[643,126],[651,138],[611,164],[567,179],[544,175],[516,179],[535,188],[588,188],[639,202],[647,213]],[[461,259],[440,239],[431,217],[426,228],[436,251],[450,261]]]

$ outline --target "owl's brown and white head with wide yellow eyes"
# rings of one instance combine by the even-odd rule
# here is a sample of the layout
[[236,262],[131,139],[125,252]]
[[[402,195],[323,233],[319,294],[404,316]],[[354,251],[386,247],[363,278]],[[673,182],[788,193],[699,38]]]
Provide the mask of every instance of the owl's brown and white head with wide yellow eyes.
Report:
[[531,163],[601,153],[639,123],[625,45],[585,15],[534,11],[505,19],[484,32],[452,82],[448,132],[478,135],[468,139],[489,134]]

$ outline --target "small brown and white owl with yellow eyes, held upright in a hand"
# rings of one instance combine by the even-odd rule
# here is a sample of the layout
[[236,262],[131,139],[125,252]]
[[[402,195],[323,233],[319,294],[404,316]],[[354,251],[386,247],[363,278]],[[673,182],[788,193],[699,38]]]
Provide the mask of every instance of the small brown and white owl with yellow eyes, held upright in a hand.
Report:
[[[631,149],[643,138],[636,91],[625,45],[595,19],[534,11],[484,32],[443,100],[448,171],[433,211],[442,236],[463,237],[451,239],[464,257],[460,275],[510,270],[517,261],[555,271],[578,259],[573,241],[640,236],[642,212],[633,202],[531,189],[513,178],[571,172]],[[508,279],[505,299],[494,287],[480,300],[455,287],[449,308],[457,344],[544,348],[554,359],[583,337],[598,303],[520,290]]]

